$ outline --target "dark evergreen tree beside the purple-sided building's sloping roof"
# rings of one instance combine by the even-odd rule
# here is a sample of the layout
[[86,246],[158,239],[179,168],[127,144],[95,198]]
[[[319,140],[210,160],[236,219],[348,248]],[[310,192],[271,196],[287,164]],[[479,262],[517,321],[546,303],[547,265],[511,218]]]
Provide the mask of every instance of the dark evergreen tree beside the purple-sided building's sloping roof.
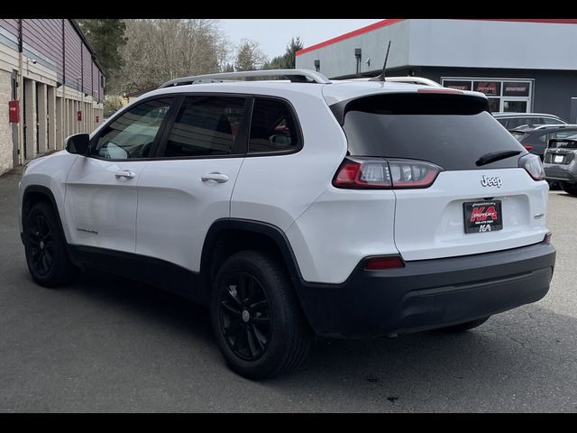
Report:
[[110,79],[123,67],[123,58],[119,49],[126,43],[124,37],[126,24],[116,19],[77,20],[87,41],[96,52],[96,59]]

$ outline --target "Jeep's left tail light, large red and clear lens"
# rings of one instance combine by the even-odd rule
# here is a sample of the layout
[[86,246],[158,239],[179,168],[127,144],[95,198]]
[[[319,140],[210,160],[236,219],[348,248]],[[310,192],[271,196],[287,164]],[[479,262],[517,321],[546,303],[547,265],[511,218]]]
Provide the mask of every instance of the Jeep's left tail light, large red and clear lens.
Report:
[[333,185],[343,189],[428,188],[441,171],[426,161],[348,157],[334,175]]

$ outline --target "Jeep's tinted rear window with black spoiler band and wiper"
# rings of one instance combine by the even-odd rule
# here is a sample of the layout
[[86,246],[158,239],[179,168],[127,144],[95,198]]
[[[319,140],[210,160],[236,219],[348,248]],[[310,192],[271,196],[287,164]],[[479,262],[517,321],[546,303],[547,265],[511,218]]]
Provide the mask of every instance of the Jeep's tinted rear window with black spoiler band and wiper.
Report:
[[[444,170],[479,170],[475,161],[487,153],[527,152],[472,97],[405,94],[400,104],[398,97],[363,99],[354,100],[344,115],[343,130],[353,156],[406,158],[434,162]],[[518,167],[519,156],[483,168]]]

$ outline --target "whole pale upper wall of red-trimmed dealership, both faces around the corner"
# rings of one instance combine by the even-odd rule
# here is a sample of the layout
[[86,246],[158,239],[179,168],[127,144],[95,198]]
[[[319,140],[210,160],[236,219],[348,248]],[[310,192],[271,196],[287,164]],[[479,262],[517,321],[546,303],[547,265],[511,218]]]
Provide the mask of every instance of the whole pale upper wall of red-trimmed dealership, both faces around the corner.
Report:
[[383,20],[298,51],[296,65],[315,70],[315,60],[320,60],[319,71],[327,77],[351,78],[356,74],[354,48],[361,48],[361,74],[377,75],[391,41],[388,70],[576,70],[577,20],[537,21]]

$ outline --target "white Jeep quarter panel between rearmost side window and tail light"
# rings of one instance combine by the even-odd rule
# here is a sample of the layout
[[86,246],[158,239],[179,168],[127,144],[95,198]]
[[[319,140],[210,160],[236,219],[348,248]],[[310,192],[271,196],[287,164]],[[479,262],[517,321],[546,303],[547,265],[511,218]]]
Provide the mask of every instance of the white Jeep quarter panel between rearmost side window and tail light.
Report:
[[326,189],[343,161],[346,137],[320,97],[293,94],[304,147],[288,155],[247,156],[234,187],[231,217],[285,231]]

